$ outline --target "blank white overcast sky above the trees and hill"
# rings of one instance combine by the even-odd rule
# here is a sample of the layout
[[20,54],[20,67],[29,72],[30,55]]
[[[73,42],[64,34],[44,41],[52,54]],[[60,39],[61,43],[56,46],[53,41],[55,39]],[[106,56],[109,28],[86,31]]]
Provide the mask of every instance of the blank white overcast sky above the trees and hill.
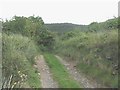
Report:
[[40,16],[45,23],[89,24],[118,16],[119,0],[1,0],[0,18]]

